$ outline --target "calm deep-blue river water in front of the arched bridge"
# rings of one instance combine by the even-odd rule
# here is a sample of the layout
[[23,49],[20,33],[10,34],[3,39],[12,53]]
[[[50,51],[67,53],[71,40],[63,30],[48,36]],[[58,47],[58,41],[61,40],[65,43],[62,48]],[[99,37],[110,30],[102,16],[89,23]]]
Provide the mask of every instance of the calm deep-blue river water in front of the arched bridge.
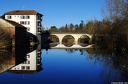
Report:
[[[12,73],[9,68],[1,72],[0,84],[128,84],[126,56],[120,58],[97,49],[41,49],[41,52],[40,70],[27,73],[30,68],[22,67],[24,73],[20,70]],[[12,62],[6,64],[9,63]],[[31,63],[34,61],[28,65]]]

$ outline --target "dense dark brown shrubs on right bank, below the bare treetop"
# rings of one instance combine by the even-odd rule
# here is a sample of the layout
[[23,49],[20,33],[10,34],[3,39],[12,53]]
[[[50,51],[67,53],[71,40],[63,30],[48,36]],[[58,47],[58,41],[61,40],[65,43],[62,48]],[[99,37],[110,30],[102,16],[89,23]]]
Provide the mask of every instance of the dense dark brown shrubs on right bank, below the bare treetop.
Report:
[[118,20],[113,23],[108,21],[93,22],[95,24],[93,43],[99,48],[111,49],[116,52],[128,52],[127,22],[127,20]]

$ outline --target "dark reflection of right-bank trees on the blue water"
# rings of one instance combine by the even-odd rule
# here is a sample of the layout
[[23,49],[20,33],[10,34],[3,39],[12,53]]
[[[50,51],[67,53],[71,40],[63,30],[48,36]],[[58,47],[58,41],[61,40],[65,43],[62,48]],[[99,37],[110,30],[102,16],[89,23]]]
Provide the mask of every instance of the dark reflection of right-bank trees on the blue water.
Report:
[[114,53],[109,50],[87,49],[88,58],[96,62],[103,62],[101,79],[108,84],[113,81],[128,81],[128,56]]

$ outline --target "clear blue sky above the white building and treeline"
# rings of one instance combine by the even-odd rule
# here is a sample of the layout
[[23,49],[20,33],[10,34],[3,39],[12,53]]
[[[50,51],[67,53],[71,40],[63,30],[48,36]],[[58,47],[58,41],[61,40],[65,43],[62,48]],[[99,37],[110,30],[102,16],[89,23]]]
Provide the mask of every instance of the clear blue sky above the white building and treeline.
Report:
[[[105,0],[1,0],[0,15],[11,10],[36,10],[43,14],[42,25],[61,27],[92,19],[102,20]],[[8,3],[7,3],[8,2]]]

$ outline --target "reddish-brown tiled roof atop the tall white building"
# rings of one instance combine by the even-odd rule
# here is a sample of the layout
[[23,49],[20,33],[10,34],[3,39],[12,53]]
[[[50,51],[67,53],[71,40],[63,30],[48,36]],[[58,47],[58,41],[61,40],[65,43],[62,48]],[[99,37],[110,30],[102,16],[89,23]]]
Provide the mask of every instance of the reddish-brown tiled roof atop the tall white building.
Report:
[[4,15],[42,15],[35,10],[13,10],[6,12]]

